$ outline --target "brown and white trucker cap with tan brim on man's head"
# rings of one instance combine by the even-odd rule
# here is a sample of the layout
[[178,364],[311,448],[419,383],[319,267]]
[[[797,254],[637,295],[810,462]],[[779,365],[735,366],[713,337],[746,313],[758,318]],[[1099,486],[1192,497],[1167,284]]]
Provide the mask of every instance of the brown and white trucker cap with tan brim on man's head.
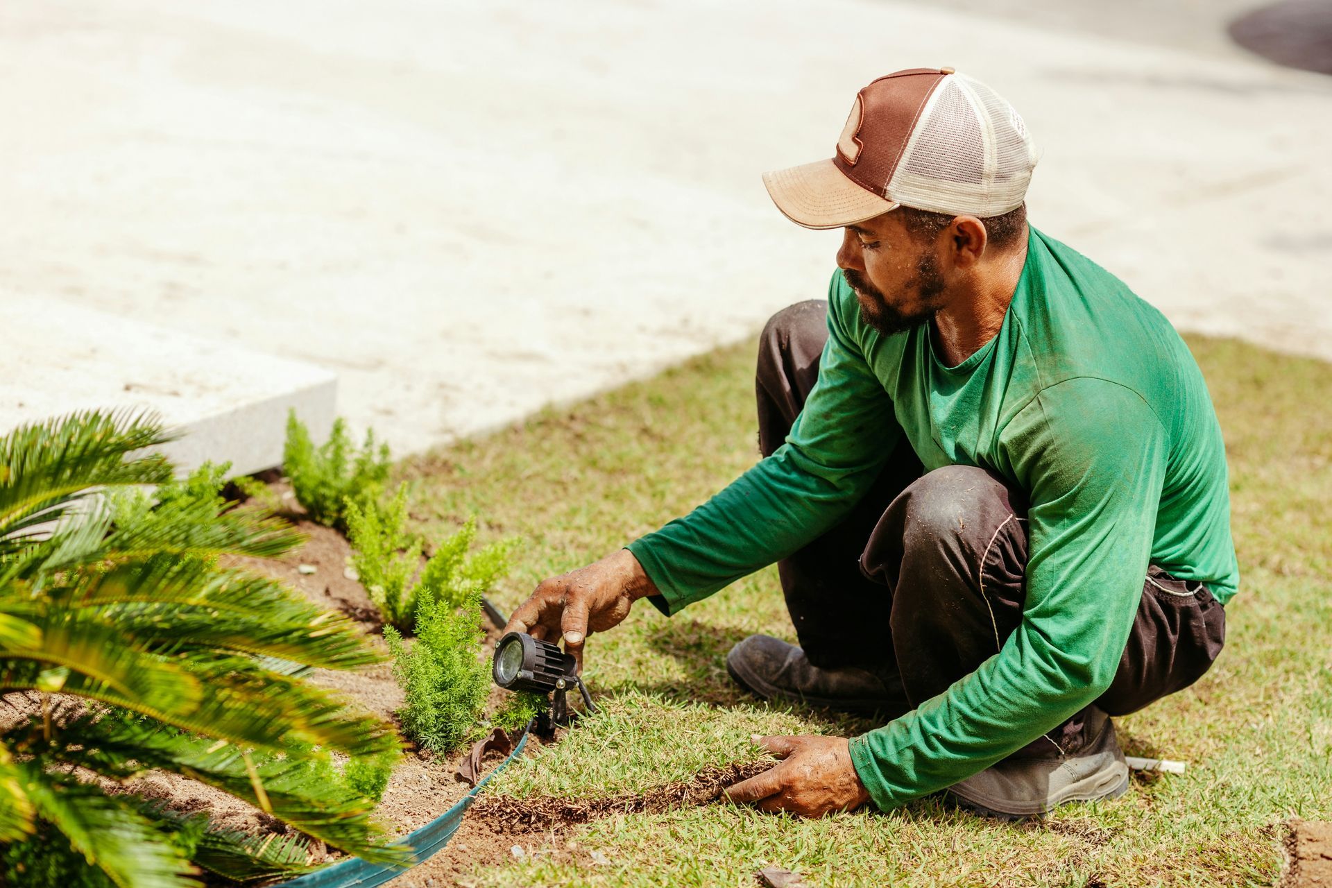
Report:
[[1038,152],[999,93],[952,68],[911,68],[855,96],[832,160],[763,173],[805,228],[840,228],[914,206],[999,216],[1022,205]]

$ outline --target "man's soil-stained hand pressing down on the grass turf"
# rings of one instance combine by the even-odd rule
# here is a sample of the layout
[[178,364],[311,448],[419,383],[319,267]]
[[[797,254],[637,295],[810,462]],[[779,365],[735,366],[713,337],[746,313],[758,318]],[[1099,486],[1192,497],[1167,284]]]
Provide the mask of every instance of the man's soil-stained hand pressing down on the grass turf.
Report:
[[754,801],[759,811],[790,811],[802,817],[851,811],[870,800],[851,764],[846,738],[753,738],[778,759],[771,770],[726,791],[731,801]]

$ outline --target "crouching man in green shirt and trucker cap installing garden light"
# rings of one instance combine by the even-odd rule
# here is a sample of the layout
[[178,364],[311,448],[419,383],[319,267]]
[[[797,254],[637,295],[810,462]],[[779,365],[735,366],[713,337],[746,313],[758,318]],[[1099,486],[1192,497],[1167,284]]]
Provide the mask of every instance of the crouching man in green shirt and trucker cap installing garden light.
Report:
[[842,228],[829,298],[759,343],[763,459],[687,517],[547,579],[509,623],[581,656],[774,560],[799,647],[726,659],[769,699],[882,712],[733,799],[818,816],[950,788],[1000,816],[1128,785],[1112,715],[1197,680],[1239,580],[1225,453],[1169,322],[1027,225],[1018,113],[951,69],[862,89],[831,160],[763,177]]

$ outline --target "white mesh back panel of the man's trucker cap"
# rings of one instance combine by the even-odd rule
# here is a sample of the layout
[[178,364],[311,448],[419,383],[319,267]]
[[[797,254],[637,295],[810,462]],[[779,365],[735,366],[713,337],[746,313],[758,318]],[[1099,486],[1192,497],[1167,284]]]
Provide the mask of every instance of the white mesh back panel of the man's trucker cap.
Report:
[[936,213],[999,216],[1022,204],[1035,165],[1018,112],[980,81],[950,75],[930,97],[886,197]]

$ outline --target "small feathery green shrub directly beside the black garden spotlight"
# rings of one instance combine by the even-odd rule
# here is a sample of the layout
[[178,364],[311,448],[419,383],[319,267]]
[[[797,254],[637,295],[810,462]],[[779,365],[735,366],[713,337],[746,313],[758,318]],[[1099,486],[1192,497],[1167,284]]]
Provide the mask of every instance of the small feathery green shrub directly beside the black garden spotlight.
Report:
[[461,596],[461,607],[434,595],[417,603],[417,638],[410,648],[392,626],[384,640],[406,706],[404,732],[432,752],[450,752],[473,735],[490,694],[490,663],[481,659],[481,592]]

